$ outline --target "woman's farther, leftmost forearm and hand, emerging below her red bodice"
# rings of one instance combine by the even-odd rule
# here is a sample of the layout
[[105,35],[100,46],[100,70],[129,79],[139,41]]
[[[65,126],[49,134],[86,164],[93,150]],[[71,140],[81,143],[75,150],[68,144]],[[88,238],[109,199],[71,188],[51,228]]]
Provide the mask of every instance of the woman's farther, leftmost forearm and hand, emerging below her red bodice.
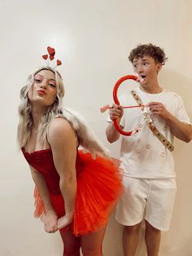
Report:
[[48,233],[56,232],[58,227],[58,217],[50,201],[50,194],[46,186],[46,181],[43,176],[30,166],[33,181],[36,184],[37,190],[41,196],[41,200],[45,207],[46,213],[44,214],[42,221],[44,223],[45,231]]

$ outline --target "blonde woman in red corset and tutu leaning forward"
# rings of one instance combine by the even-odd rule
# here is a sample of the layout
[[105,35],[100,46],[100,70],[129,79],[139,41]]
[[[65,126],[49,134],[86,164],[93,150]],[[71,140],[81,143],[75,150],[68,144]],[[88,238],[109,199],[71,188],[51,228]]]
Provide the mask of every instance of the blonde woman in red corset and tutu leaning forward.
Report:
[[120,173],[81,119],[62,111],[63,95],[62,78],[50,67],[30,75],[20,93],[18,141],[36,185],[34,215],[46,232],[59,230],[64,256],[79,256],[80,248],[100,256]]

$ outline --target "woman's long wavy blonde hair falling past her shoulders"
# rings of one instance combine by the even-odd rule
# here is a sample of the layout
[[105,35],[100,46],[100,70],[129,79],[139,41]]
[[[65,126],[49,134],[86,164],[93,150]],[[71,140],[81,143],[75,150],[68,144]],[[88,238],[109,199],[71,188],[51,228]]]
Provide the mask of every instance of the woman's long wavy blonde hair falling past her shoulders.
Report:
[[32,108],[31,104],[28,100],[28,90],[30,86],[34,83],[34,76],[39,73],[41,70],[46,69],[55,73],[55,81],[57,88],[57,95],[55,98],[54,104],[52,104],[46,111],[45,115],[41,119],[41,142],[43,143],[46,140],[47,131],[50,125],[50,122],[53,118],[62,113],[62,99],[64,95],[64,86],[62,82],[62,78],[55,68],[50,67],[41,67],[38,68],[34,73],[28,76],[28,81],[26,86],[21,88],[20,90],[20,106],[19,106],[19,115],[20,121],[17,130],[17,139],[19,143],[19,147],[26,147],[28,143],[28,139],[31,135],[31,131],[33,128],[33,117],[32,117]]

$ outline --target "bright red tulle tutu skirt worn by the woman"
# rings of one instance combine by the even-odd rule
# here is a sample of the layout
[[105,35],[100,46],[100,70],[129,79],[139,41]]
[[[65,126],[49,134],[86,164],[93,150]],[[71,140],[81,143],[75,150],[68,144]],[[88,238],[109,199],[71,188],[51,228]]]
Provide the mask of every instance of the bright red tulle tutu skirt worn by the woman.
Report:
[[[72,223],[76,236],[96,232],[107,223],[109,214],[123,192],[120,169],[114,161],[105,157],[93,159],[89,153],[78,152],[76,207]],[[45,212],[41,197],[34,190],[35,217]],[[50,194],[50,200],[58,217],[65,214],[63,196]]]

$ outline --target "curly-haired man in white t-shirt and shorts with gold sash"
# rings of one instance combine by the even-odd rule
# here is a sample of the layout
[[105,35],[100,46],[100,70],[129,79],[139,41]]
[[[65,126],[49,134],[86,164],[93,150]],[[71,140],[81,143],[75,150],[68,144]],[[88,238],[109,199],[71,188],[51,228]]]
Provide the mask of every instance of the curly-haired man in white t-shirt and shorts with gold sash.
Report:
[[[158,73],[167,60],[164,51],[151,43],[138,45],[129,60],[140,79],[139,86],[122,95],[120,105],[113,104],[106,130],[107,140],[113,143],[120,138],[113,120],[124,130],[138,128],[121,142],[124,196],[117,205],[116,219],[124,225],[124,256],[136,254],[143,219],[147,254],[157,256],[161,231],[169,228],[176,194],[173,138],[190,142],[192,126],[181,97],[159,85]],[[123,111],[122,106],[135,104],[146,107]]]

